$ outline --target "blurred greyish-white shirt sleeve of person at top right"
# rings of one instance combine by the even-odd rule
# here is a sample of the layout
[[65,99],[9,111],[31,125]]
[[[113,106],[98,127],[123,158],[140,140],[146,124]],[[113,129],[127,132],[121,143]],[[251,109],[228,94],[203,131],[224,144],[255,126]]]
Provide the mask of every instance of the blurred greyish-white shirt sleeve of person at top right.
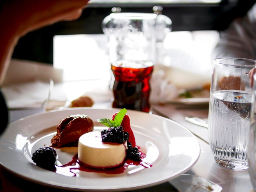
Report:
[[236,57],[256,59],[256,3],[242,18],[236,18],[220,32],[213,59]]

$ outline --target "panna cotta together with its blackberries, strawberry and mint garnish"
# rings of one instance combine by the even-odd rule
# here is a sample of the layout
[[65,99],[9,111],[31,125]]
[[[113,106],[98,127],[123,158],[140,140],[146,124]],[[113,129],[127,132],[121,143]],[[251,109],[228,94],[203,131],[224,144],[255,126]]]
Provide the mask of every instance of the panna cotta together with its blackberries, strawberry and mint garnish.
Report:
[[86,133],[79,138],[78,160],[80,163],[105,169],[123,165],[126,159],[141,160],[130,127],[130,118],[126,112],[126,109],[122,109],[113,115],[112,120],[98,119],[98,122],[109,128],[101,132]]

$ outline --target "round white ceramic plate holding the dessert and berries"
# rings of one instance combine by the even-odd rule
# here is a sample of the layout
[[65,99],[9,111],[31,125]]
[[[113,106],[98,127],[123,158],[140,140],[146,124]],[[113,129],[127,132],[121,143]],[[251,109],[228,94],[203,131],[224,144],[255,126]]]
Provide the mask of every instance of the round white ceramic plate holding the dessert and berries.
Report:
[[[70,108],[22,118],[11,123],[0,137],[0,163],[18,176],[42,185],[69,190],[135,190],[161,184],[189,170],[198,160],[200,145],[188,129],[167,118],[128,110],[136,144],[146,152],[150,168],[128,167],[122,174],[79,173],[64,176],[36,166],[31,155],[40,147],[49,146],[60,121],[72,114],[112,118],[119,109]],[[95,129],[106,128],[95,123]],[[102,125],[104,126],[104,125]],[[76,151],[57,150],[58,161],[71,161]]]

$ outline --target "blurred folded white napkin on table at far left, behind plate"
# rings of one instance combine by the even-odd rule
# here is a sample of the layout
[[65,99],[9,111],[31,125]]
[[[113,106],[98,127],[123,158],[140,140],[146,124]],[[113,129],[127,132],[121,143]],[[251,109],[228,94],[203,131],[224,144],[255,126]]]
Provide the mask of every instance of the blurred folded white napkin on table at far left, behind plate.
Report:
[[63,70],[52,65],[12,59],[1,87],[8,108],[42,108],[49,99],[67,100],[56,88],[62,76]]

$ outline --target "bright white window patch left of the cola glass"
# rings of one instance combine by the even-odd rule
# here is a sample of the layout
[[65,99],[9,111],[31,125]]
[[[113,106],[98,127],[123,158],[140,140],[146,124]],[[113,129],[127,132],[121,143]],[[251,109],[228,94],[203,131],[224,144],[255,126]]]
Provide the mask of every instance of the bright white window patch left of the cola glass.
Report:
[[63,69],[63,81],[110,78],[106,42],[92,35],[54,36],[54,68]]

